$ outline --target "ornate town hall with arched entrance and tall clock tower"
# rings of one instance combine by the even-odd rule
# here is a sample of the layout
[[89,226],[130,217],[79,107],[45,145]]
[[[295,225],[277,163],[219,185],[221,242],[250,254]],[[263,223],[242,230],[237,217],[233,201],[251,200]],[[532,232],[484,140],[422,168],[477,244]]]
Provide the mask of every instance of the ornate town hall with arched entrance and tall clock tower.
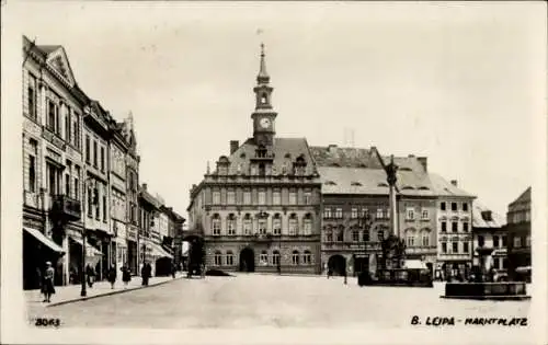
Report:
[[207,268],[320,272],[321,183],[305,138],[278,138],[262,46],[253,137],[191,189],[190,227],[205,240]]

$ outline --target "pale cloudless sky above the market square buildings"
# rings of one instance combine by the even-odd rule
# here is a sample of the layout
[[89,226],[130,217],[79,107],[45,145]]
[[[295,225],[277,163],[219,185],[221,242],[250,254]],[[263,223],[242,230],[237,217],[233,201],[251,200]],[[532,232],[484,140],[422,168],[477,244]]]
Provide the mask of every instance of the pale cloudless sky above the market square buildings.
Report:
[[505,215],[546,145],[536,4],[48,1],[26,2],[20,25],[62,45],[116,119],[133,113],[140,182],[185,217],[207,162],[252,135],[261,42],[277,136],[427,156],[429,171]]

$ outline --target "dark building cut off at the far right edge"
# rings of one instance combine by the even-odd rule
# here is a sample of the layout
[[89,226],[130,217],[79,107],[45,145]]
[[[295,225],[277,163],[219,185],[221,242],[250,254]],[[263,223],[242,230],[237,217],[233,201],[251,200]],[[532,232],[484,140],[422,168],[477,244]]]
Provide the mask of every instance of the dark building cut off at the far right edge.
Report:
[[509,205],[505,229],[512,279],[530,279],[530,187]]

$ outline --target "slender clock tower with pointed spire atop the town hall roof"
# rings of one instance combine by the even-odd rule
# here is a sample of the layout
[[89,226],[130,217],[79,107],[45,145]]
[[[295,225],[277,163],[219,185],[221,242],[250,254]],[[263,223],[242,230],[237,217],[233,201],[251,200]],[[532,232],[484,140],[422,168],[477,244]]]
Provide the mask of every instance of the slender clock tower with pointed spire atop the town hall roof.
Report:
[[261,66],[256,76],[255,111],[251,114],[253,119],[253,138],[256,145],[272,146],[274,142],[275,119],[277,113],[272,108],[272,91],[270,85],[270,76],[266,72],[266,62],[264,59],[264,44],[261,44]]

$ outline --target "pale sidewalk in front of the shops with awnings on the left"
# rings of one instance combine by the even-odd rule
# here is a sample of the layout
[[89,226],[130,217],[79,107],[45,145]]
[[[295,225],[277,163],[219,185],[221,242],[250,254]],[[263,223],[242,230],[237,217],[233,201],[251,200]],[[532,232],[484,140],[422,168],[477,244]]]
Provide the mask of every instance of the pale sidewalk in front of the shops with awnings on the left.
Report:
[[[186,276],[186,273],[184,272],[178,272],[175,275],[175,279],[181,279],[182,277]],[[55,294],[52,296],[52,302],[46,303],[43,302],[44,300],[44,295],[41,294],[39,290],[25,290],[25,299],[26,299],[26,304],[28,307],[54,307],[54,306],[60,306],[60,304],[66,304],[66,303],[71,303],[80,300],[88,300],[88,299],[93,299],[98,297],[104,297],[104,296],[110,296],[110,295],[115,295],[115,294],[123,294],[132,290],[138,290],[147,287],[152,287],[152,286],[158,286],[162,285],[169,281],[174,280],[171,276],[168,277],[151,277],[148,281],[148,286],[141,286],[141,278],[139,276],[134,276],[132,277],[132,280],[127,285],[127,288],[124,286],[124,283],[122,279],[117,279],[116,284],[114,285],[114,289],[111,288],[111,284],[109,281],[96,281],[93,284],[93,287],[90,288],[89,286],[87,287],[87,295],[85,297],[80,296],[81,291],[81,285],[67,285],[67,286],[56,286],[55,287]]]

